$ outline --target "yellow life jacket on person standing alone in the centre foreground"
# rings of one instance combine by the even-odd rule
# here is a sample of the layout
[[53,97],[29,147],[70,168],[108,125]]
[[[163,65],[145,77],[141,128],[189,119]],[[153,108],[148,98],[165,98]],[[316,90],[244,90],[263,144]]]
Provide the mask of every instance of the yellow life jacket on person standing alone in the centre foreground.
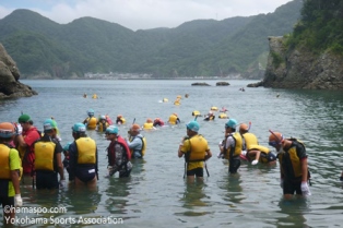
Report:
[[202,161],[205,159],[208,141],[201,135],[197,134],[189,139],[190,151],[186,153],[186,163]]

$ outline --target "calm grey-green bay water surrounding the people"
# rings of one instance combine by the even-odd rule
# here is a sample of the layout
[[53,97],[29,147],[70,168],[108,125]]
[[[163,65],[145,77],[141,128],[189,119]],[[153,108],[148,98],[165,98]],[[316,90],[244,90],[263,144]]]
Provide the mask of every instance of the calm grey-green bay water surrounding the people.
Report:
[[[239,88],[252,81],[228,81],[229,86],[197,87],[199,81],[23,81],[38,96],[0,101],[0,121],[16,121],[21,112],[28,113],[34,124],[55,117],[62,145],[72,141],[71,127],[95,115],[108,113],[113,119],[123,115],[127,124],[120,134],[127,136],[135,119],[167,120],[177,112],[178,127],[143,132],[147,151],[143,160],[133,161],[132,176],[111,179],[106,173],[104,134],[90,131],[99,151],[99,181],[96,191],[66,188],[57,192],[33,190],[29,180],[22,184],[25,206],[63,206],[67,213],[17,214],[17,217],[60,219],[68,217],[122,218],[117,227],[339,227],[343,223],[343,96],[342,92],[285,91],[272,88]],[[201,81],[202,82],[202,81]],[[86,93],[88,98],[83,98]],[[90,98],[96,93],[99,98]],[[189,94],[185,98],[185,94]],[[280,94],[280,97],[276,97]],[[174,106],[177,95],[181,105]],[[168,103],[161,103],[168,98]],[[268,145],[269,129],[305,142],[312,172],[312,195],[307,200],[283,201],[279,185],[279,165],[265,167],[244,164],[239,175],[229,176],[227,166],[215,157],[217,143],[224,133],[225,119],[205,122],[199,118],[200,133],[208,139],[213,157],[208,161],[210,177],[204,183],[187,184],[182,179],[184,159],[177,157],[178,143],[186,135],[185,123],[191,112],[206,113],[212,106],[228,109],[238,122],[251,121],[251,132],[260,144]],[[50,220],[49,220],[50,221]],[[2,225],[2,224],[1,224]],[[36,227],[37,225],[32,225]],[[51,224],[42,225],[52,227]],[[74,227],[78,225],[63,225]],[[80,225],[79,225],[80,226]],[[98,225],[93,225],[98,226]],[[102,225],[113,227],[114,225]],[[23,225],[28,227],[28,225]]]

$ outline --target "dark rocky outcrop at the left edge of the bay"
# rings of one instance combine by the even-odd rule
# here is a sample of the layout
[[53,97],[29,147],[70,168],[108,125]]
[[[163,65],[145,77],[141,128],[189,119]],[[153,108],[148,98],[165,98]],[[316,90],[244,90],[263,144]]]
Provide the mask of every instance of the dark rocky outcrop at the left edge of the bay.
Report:
[[20,72],[13,59],[0,44],[0,99],[37,95],[29,86],[19,82]]

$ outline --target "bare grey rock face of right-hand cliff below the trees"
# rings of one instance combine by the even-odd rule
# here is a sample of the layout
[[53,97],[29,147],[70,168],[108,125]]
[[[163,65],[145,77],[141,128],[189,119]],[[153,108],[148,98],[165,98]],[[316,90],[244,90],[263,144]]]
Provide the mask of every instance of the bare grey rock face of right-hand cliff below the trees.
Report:
[[264,79],[248,85],[275,88],[343,89],[343,56],[314,53],[304,47],[288,50],[284,37],[269,37]]

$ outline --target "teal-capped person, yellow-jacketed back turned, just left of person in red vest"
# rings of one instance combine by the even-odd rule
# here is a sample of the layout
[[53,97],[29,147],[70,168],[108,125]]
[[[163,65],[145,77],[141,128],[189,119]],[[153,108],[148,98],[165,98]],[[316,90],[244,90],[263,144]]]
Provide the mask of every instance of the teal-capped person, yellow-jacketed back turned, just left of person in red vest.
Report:
[[74,141],[69,146],[69,181],[76,187],[95,188],[98,179],[97,146],[85,132],[86,127],[83,123],[72,127]]

